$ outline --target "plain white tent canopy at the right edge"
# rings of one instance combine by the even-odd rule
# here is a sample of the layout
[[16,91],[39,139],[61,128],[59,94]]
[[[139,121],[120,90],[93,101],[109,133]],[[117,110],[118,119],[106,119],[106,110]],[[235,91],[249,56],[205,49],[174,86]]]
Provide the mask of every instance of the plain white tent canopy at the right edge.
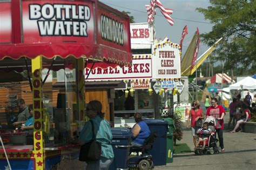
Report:
[[238,81],[237,83],[230,85],[229,89],[230,90],[241,90],[241,89],[256,90],[256,79],[248,76],[245,79],[242,79],[241,81]]

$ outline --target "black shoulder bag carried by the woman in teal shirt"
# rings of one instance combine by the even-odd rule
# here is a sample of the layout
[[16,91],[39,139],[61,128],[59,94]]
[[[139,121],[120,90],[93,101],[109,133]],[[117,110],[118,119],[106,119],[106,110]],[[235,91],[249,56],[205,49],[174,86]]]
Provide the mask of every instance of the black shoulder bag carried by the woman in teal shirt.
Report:
[[94,125],[90,120],[92,126],[92,139],[86,144],[82,145],[79,153],[79,161],[90,162],[100,160],[100,154],[102,152],[102,144],[96,141],[94,133]]

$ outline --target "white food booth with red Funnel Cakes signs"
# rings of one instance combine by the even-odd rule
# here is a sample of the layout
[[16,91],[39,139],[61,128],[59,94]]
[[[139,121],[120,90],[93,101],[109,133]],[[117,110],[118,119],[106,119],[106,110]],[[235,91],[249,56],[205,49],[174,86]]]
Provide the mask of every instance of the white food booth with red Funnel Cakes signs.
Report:
[[103,64],[97,63],[90,74],[91,65],[85,69],[85,76],[89,74],[87,81],[106,84],[122,80],[126,84],[125,87],[114,88],[109,97],[109,100],[114,100],[111,121],[115,127],[133,126],[136,112],[142,113],[144,118],[160,118],[173,104],[174,94],[180,94],[184,88],[180,78],[179,45],[165,38],[151,46],[150,54],[133,54],[131,66],[109,65],[103,69]]

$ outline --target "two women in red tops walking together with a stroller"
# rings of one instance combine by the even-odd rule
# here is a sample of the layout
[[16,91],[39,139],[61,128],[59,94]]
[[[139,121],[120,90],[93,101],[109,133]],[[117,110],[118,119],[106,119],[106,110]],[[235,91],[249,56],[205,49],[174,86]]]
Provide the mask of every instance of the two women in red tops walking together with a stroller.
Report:
[[[210,103],[209,103],[210,104]],[[224,121],[223,117],[225,116],[225,110],[223,106],[218,105],[218,99],[213,98],[211,99],[211,106],[207,107],[206,110],[206,117],[212,116],[215,119],[218,120],[218,123],[220,124],[219,128],[216,128],[216,132],[218,134],[219,138],[219,145],[221,147],[221,151],[224,152],[224,140],[223,140],[223,129],[224,129]],[[194,147],[198,146],[200,141],[197,141],[197,133],[199,132],[201,127],[196,126],[198,120],[203,120],[205,118],[203,109],[200,108],[200,103],[198,100],[194,100],[192,103],[192,109],[190,111],[190,114],[188,115],[187,119],[187,128],[189,124],[191,124],[191,130],[192,130],[192,136],[193,136],[193,142]],[[208,126],[204,124],[204,126]],[[199,140],[203,140],[199,138]],[[205,145],[205,142],[204,142]]]

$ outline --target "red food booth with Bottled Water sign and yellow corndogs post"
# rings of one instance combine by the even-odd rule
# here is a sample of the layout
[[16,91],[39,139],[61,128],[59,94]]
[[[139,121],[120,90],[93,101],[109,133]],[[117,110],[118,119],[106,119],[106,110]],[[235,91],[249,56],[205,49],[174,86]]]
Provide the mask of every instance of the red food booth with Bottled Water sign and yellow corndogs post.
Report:
[[[0,12],[0,169],[63,169],[79,153],[84,68],[130,65],[129,16],[96,0],[4,0]],[[32,131],[12,128],[17,98],[33,105]]]

